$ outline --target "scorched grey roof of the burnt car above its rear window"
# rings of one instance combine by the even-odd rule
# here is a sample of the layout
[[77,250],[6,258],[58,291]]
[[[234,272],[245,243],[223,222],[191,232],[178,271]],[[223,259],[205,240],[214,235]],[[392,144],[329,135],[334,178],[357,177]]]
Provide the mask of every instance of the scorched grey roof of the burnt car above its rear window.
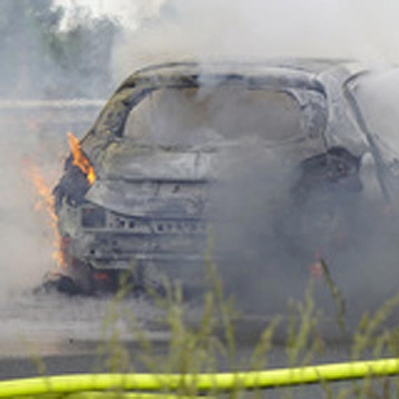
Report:
[[[161,87],[190,87],[201,85],[207,78],[235,78],[248,79],[249,83],[259,82],[264,87],[290,87],[293,89],[317,90],[325,97],[336,98],[335,88],[342,85],[349,78],[358,73],[367,71],[364,64],[352,62],[349,59],[269,59],[265,62],[169,62],[139,69],[132,73],[113,94],[106,108],[100,113],[92,132],[97,132],[97,125],[106,137],[109,132],[120,129],[119,123],[110,125],[110,120],[116,113],[124,115],[129,112],[132,104],[137,104],[147,90],[156,90]],[[253,79],[253,80],[252,80]],[[217,82],[217,80],[214,80]],[[213,80],[210,80],[213,83]],[[333,88],[333,90],[331,90]],[[125,90],[126,89],[126,90]],[[132,94],[132,90],[134,94]],[[330,93],[330,96],[327,94]],[[331,100],[332,101],[332,100]],[[121,105],[122,104],[122,105]],[[339,102],[337,102],[339,104]],[[115,118],[114,118],[115,119]],[[346,120],[344,118],[344,120]],[[340,122],[341,123],[341,122]],[[344,131],[348,131],[346,128]],[[88,137],[88,136],[87,136]],[[87,139],[85,137],[85,139]],[[339,134],[332,134],[339,143]],[[83,139],[83,140],[85,140]],[[88,140],[86,140],[88,141]],[[358,141],[353,147],[351,143],[345,146],[353,147],[353,153],[359,153]],[[83,143],[83,142],[82,142]],[[95,143],[94,143],[95,144]],[[94,146],[93,144],[93,146]],[[90,144],[85,143],[87,151]],[[95,144],[97,146],[97,144]]]

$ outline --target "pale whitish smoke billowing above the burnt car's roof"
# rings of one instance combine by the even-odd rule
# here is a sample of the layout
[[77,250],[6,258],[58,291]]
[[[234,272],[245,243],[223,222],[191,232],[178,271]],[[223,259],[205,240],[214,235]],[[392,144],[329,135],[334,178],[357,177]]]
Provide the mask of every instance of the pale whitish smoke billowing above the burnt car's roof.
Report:
[[158,14],[139,27],[125,26],[114,54],[118,79],[171,59],[344,57],[380,63],[399,57],[393,1],[170,0],[153,10]]

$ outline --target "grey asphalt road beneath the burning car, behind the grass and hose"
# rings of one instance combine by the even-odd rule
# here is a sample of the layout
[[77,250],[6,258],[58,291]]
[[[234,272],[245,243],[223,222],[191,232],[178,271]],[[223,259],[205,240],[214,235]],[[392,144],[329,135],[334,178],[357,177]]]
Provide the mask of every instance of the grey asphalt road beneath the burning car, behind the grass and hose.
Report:
[[[123,363],[116,363],[116,369],[109,363],[118,347],[126,349],[133,359],[130,370],[144,371],[142,363],[134,360],[141,354],[148,354],[137,331],[145,332],[152,342],[152,356],[162,358],[170,350],[169,334],[154,323],[160,314],[147,300],[133,297],[116,302],[111,297],[66,297],[55,293],[34,295],[30,290],[14,290],[0,297],[0,379],[119,371]],[[192,315],[190,311],[188,314]],[[134,318],[130,317],[132,315]],[[244,316],[236,324],[234,367],[237,369],[248,367],[255,339],[260,329],[267,325],[266,319]],[[325,346],[323,351],[314,353],[309,363],[339,362],[350,358],[349,335],[347,339],[337,339],[338,336],[332,334],[334,324],[321,320],[319,332]],[[284,320],[281,325],[283,329],[287,328]],[[288,365],[286,345],[279,336],[280,333],[276,332],[277,339],[267,354],[267,367]],[[365,353],[364,357],[372,358],[372,353]],[[160,366],[160,363],[155,364]],[[230,367],[223,358],[217,368],[223,371]],[[266,367],[266,363],[260,367]],[[382,381],[376,383],[377,391],[383,389],[383,384]],[[330,397],[349,387],[351,382],[330,384]],[[267,391],[262,397],[326,398],[328,395],[323,386],[301,386]]]

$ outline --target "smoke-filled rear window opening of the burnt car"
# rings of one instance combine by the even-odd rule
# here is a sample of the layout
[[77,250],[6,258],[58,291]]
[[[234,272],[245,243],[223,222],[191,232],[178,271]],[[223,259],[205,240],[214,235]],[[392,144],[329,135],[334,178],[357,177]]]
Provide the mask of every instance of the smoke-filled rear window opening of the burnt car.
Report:
[[124,135],[165,146],[249,137],[286,141],[303,136],[302,122],[301,106],[290,92],[242,85],[162,88],[132,109]]

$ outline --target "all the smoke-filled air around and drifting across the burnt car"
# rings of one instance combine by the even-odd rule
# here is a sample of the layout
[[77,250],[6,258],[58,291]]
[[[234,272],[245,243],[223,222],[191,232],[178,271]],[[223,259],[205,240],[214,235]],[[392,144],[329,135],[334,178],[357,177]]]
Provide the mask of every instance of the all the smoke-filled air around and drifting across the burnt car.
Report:
[[[135,69],[197,62],[199,87],[149,94],[125,130],[134,145],[190,147],[201,154],[198,162],[214,178],[204,211],[212,221],[206,244],[239,307],[284,309],[287,298],[300,297],[320,272],[321,259],[349,300],[349,312],[395,291],[392,237],[399,227],[390,212],[399,203],[393,197],[387,209],[380,202],[370,156],[360,159],[337,146],[331,157],[346,157],[358,180],[348,191],[327,193],[313,190],[307,174],[317,162],[322,168],[323,160],[301,163],[316,154],[281,145],[300,139],[313,123],[303,104],[325,106],[319,94],[308,99],[298,90],[295,97],[256,82],[230,87],[213,80],[207,68],[212,62],[309,57],[377,68],[377,76],[362,80],[360,106],[372,129],[399,151],[393,111],[399,74],[386,71],[399,62],[397,2],[43,0],[27,6],[3,0],[0,9],[8,15],[0,17],[7,38],[0,41],[2,290],[30,289],[57,269],[57,216],[46,207],[54,206],[48,196],[69,153],[67,133],[83,137],[100,105]],[[214,153],[220,154],[216,161]],[[207,245],[200,247],[206,251]],[[184,265],[176,270],[172,275],[192,278]],[[317,289],[321,303],[332,306],[325,286]]]

